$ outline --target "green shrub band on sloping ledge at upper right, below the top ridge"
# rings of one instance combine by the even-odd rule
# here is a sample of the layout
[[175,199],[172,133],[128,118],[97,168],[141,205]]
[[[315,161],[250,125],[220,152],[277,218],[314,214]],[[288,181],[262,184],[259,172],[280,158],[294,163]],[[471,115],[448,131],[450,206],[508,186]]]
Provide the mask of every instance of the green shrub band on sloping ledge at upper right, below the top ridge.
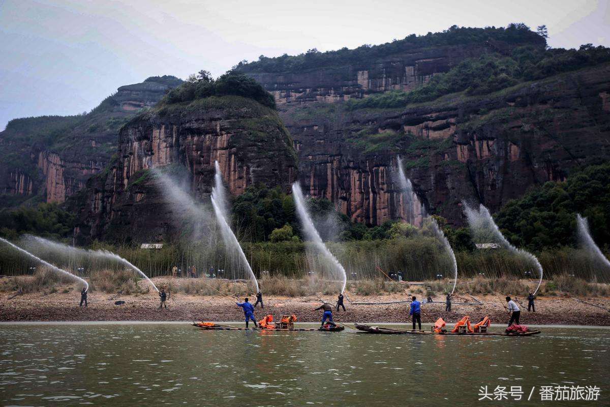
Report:
[[462,61],[447,73],[436,74],[409,92],[394,90],[364,99],[350,99],[348,109],[388,109],[432,101],[443,95],[465,92],[486,95],[520,82],[610,62],[610,48],[583,45],[580,49],[540,49],[523,46],[510,56],[485,54]]

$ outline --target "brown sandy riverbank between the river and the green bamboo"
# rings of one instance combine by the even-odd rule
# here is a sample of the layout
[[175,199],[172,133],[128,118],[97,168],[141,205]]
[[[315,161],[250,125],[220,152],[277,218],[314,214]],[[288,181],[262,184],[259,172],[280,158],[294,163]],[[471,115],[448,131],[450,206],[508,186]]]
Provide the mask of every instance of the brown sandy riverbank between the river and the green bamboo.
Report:
[[[0,293],[0,321],[243,321],[243,312],[227,297],[221,295],[208,297],[201,295],[173,294],[167,301],[167,309],[159,310],[159,297],[152,291],[149,294],[120,295],[92,292],[88,296],[88,307],[79,308],[78,292],[56,292],[44,294],[18,295],[9,300],[14,293]],[[404,294],[383,296],[356,297],[349,295],[352,302],[389,302],[405,301]],[[331,296],[320,296],[335,303]],[[257,319],[265,314],[279,317],[281,314],[296,314],[300,322],[318,322],[320,311],[312,311],[320,305],[317,296],[264,298],[265,309],[256,308]],[[112,299],[110,299],[112,298]],[[444,297],[433,297],[443,301]],[[445,305],[440,303],[424,304],[422,322],[434,322],[443,317],[447,322],[455,322],[463,315],[470,315],[478,320],[489,315],[492,323],[505,324],[508,314],[503,306],[506,304],[501,295],[484,295],[477,297],[483,305],[453,304],[451,312],[445,312]],[[610,298],[578,298],[590,304],[597,304],[610,309]],[[125,301],[115,305],[116,300]],[[235,300],[238,300],[235,298]],[[420,298],[421,300],[421,298]],[[467,296],[460,296],[455,302],[473,301]],[[526,310],[525,298],[518,298],[522,304],[522,324],[558,324],[558,325],[610,325],[610,312],[590,304],[581,303],[572,297],[540,297],[536,300],[536,312]],[[409,304],[357,305],[345,301],[346,312],[335,312],[337,320],[343,322],[409,322]]]

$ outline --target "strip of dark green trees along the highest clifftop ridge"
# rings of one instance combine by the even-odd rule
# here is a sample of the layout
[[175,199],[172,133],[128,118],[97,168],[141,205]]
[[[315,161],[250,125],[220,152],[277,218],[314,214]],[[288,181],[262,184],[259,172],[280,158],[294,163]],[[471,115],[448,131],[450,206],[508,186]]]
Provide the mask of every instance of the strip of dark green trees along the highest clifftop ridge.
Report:
[[309,68],[336,67],[349,63],[375,60],[401,52],[412,52],[416,49],[468,45],[486,41],[503,41],[509,44],[530,44],[544,48],[546,40],[536,34],[525,24],[510,24],[508,27],[471,28],[452,26],[443,32],[426,35],[411,34],[402,40],[381,45],[362,45],[356,49],[342,48],[337,51],[319,52],[310,49],[304,54],[268,58],[260,56],[255,62],[242,61],[234,68],[245,73],[285,73],[307,70]]

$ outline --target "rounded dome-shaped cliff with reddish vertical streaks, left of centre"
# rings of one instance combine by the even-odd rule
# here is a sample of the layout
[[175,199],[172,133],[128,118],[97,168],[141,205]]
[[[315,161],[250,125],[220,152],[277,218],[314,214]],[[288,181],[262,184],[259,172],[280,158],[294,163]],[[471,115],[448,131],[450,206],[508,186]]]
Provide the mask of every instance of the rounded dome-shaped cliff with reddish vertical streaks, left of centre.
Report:
[[117,162],[90,180],[77,237],[179,236],[180,216],[172,213],[178,197],[164,190],[154,168],[184,167],[191,192],[201,201],[211,192],[216,160],[232,195],[259,182],[289,190],[296,179],[292,143],[273,109],[240,96],[151,110],[121,129]]

